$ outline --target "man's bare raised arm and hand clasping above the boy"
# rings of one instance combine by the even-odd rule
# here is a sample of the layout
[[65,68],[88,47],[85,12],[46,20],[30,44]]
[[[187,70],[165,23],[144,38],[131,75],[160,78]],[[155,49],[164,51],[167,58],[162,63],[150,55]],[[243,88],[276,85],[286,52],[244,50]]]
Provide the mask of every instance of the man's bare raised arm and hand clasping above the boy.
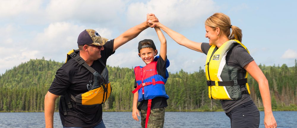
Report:
[[137,37],[140,34],[140,32],[142,32],[146,28],[150,27],[151,24],[148,23],[149,20],[153,21],[153,22],[158,22],[157,17],[155,17],[154,15],[150,15],[150,17],[146,18],[145,22],[143,22],[141,24],[138,24],[138,25],[128,29],[126,32],[124,32],[119,37],[116,37],[114,39],[114,41],[113,41],[113,51],[115,51],[117,48],[124,45],[128,41],[134,39],[135,37]]

